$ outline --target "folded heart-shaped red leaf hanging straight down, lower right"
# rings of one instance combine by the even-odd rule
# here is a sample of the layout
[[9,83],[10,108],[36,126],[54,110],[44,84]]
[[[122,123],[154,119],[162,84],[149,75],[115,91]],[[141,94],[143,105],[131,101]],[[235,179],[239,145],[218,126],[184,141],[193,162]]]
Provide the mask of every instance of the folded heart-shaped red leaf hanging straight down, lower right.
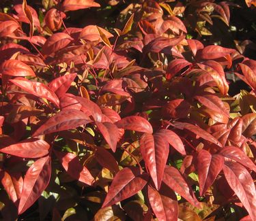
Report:
[[210,154],[201,150],[197,156],[197,171],[199,175],[200,196],[214,183],[218,173],[224,165],[224,157],[219,154]]

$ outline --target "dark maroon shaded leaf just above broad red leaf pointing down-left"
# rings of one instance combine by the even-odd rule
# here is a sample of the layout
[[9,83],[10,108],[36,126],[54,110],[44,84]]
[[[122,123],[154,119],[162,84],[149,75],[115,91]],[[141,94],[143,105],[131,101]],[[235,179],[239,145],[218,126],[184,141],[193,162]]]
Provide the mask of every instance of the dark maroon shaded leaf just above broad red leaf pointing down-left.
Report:
[[106,149],[98,147],[95,152],[95,158],[102,167],[109,169],[111,172],[117,173],[119,171],[115,157]]

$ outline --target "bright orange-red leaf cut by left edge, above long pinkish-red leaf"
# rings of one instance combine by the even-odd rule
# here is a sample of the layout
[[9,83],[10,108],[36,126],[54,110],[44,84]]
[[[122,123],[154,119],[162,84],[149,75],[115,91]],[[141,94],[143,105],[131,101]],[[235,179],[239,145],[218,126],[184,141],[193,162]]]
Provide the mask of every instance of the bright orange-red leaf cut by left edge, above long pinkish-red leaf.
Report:
[[0,73],[5,74],[5,75],[10,75],[10,76],[20,76],[20,77],[25,77],[25,76],[33,76],[35,77],[35,73],[25,63],[22,61],[17,61],[17,60],[7,60],[4,61],[1,66],[0,66]]

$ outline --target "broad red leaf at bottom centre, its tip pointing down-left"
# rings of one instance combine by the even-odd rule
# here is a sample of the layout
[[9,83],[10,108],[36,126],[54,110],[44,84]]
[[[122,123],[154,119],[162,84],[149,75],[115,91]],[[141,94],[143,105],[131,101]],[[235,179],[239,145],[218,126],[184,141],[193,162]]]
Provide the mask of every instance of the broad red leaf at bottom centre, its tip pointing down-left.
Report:
[[126,167],[122,169],[122,171],[119,171],[115,175],[102,207],[108,207],[132,197],[139,190],[143,189],[145,184],[147,184],[147,180],[147,173],[141,174],[137,167]]

